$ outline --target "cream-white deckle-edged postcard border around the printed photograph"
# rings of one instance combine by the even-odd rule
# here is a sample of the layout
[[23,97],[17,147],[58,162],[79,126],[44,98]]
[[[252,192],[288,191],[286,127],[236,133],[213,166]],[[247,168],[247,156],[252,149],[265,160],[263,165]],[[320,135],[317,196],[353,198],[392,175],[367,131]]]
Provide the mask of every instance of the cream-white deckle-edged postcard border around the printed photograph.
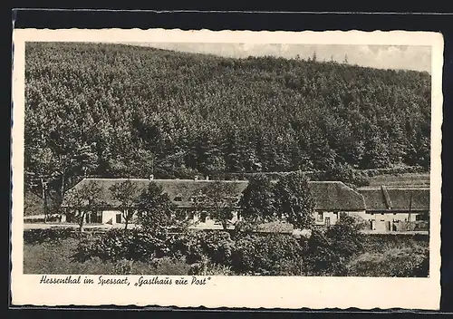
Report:
[[[432,47],[429,278],[213,276],[207,285],[40,285],[23,274],[24,248],[24,43],[43,42],[317,43],[429,45]],[[247,308],[439,309],[443,38],[391,31],[249,32],[181,30],[16,29],[12,128],[12,273],[14,305],[160,305]],[[99,275],[86,275],[97,282]],[[59,277],[64,277],[60,275]],[[82,275],[84,278],[85,275]],[[112,276],[111,276],[112,277]],[[125,276],[115,276],[125,277]],[[150,277],[150,276],[147,276]],[[179,276],[170,276],[173,280]]]

